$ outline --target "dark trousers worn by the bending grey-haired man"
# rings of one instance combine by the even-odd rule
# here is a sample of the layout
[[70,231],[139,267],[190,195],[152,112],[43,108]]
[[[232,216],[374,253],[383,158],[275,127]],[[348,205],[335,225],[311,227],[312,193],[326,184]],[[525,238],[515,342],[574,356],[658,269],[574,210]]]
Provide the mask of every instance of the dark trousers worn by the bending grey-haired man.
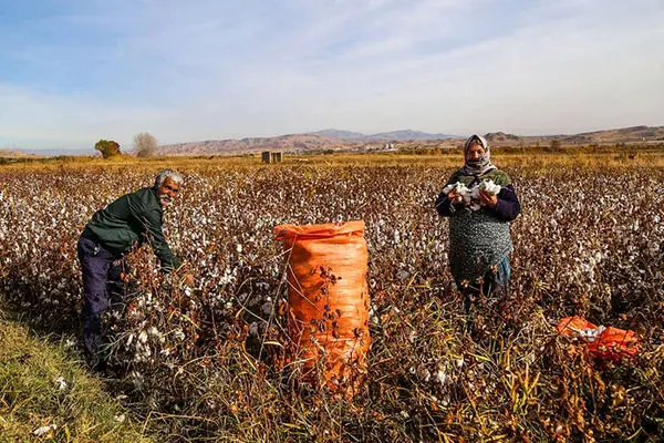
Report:
[[98,359],[102,313],[111,307],[112,300],[124,296],[124,260],[85,237],[79,238],[76,249],[83,271],[83,339],[90,356]]

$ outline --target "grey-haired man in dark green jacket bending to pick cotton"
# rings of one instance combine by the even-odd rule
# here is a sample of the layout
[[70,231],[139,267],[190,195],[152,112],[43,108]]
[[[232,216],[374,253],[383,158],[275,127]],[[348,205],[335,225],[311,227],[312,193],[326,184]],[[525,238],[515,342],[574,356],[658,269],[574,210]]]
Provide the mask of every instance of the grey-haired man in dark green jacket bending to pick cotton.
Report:
[[[83,271],[83,337],[93,365],[103,369],[100,359],[102,313],[111,306],[111,296],[122,295],[123,257],[147,243],[166,272],[178,270],[181,261],[170,251],[162,230],[163,210],[177,197],[183,177],[170,169],[158,173],[153,187],[126,194],[97,210],[79,238],[77,251]],[[193,284],[191,275],[185,281]]]

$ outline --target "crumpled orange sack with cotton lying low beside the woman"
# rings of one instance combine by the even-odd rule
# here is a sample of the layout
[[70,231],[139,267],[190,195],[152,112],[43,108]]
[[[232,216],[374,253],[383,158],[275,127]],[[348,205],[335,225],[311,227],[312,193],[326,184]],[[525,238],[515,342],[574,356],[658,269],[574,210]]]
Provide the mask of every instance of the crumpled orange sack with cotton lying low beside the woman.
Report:
[[596,327],[578,316],[563,318],[557,329],[560,336],[584,339],[588,352],[603,360],[634,358],[639,352],[639,338],[634,331]]

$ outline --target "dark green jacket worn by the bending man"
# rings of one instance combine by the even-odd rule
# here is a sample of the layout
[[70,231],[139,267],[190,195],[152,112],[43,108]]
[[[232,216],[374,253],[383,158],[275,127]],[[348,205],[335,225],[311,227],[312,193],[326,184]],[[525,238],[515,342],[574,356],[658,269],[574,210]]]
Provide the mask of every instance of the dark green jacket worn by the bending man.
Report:
[[135,193],[126,194],[97,210],[85,226],[83,236],[97,240],[110,251],[124,255],[134,245],[148,243],[164,269],[177,269],[178,258],[170,251],[162,219],[164,213],[159,197],[152,187],[144,187]]

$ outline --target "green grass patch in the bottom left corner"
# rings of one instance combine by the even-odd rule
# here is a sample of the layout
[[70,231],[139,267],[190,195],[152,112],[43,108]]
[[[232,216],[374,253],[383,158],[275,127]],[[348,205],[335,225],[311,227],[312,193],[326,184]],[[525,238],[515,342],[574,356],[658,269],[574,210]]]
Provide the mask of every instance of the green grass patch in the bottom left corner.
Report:
[[[0,311],[2,313],[2,311]],[[66,384],[61,384],[58,380]],[[55,425],[41,437],[33,432]],[[68,357],[66,343],[0,318],[0,442],[148,442],[141,425]]]

